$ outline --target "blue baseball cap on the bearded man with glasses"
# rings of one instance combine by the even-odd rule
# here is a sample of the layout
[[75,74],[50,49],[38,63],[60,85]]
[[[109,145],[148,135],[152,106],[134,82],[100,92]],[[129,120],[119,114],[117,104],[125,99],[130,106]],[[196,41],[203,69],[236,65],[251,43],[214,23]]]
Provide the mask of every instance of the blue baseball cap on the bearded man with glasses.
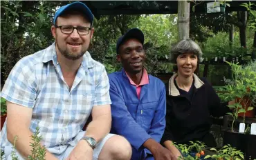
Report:
[[53,25],[55,25],[57,17],[59,17],[66,10],[71,9],[81,11],[86,16],[86,18],[89,19],[91,24],[93,23],[93,14],[91,13],[91,10],[84,3],[80,1],[75,1],[73,3],[62,6],[59,10],[57,10],[53,19]]

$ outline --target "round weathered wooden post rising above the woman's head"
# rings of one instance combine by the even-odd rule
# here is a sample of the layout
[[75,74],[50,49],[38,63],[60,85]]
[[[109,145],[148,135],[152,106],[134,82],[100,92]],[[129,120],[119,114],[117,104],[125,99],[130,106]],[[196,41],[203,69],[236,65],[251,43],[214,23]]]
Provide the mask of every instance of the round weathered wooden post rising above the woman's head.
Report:
[[178,1],[178,35],[179,40],[190,38],[190,3]]

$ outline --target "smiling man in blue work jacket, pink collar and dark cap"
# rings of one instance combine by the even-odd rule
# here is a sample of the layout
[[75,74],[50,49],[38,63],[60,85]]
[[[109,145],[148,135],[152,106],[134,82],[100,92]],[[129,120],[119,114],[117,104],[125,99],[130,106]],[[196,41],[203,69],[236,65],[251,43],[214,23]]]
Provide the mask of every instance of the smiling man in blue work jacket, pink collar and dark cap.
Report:
[[159,141],[165,130],[165,85],[143,67],[144,34],[132,28],[118,39],[117,59],[122,71],[109,74],[112,128],[132,146],[133,160],[171,159]]

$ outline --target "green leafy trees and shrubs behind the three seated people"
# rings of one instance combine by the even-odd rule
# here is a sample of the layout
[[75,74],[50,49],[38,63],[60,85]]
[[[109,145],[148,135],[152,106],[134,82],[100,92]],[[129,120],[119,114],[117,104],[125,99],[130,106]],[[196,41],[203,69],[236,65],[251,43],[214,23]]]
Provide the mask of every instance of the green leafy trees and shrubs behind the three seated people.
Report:
[[[53,16],[57,8],[66,3],[70,1],[1,1],[1,86],[21,57],[33,54],[53,43]],[[147,1],[143,1],[142,5],[147,5]],[[248,61],[253,50],[253,40],[256,39],[255,28],[252,27],[255,26],[254,14],[254,11],[248,12],[246,25],[250,27],[244,26],[246,45],[243,44],[243,47],[239,33],[239,28],[243,26],[239,26],[241,23],[237,21],[241,12],[191,12],[190,37],[199,43],[204,58],[210,60],[212,57],[239,57]],[[129,28],[137,27],[145,33],[148,72],[155,76],[172,73],[172,64],[166,57],[169,56],[170,49],[178,37],[176,14],[106,15],[95,19],[93,25],[95,33],[89,52],[93,59],[104,64],[107,72],[121,68],[120,63],[116,61],[116,40]],[[232,44],[228,39],[231,26],[235,26]],[[201,64],[201,76],[203,67]],[[214,86],[221,86],[221,80],[226,74],[227,66],[211,65],[207,78]]]

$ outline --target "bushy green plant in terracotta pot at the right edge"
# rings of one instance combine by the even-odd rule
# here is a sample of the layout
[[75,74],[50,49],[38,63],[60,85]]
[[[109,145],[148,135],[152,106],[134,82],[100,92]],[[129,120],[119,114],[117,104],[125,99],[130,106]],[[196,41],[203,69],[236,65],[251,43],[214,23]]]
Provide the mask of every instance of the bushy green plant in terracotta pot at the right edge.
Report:
[[[244,117],[244,121],[245,117],[254,118],[255,108],[253,108],[253,102],[256,98],[256,70],[254,70],[254,66],[256,61],[252,61],[246,66],[240,66],[238,63],[230,63],[228,61],[226,63],[232,70],[233,79],[224,78],[226,86],[221,91],[225,92],[222,92],[219,96],[225,100],[236,99],[236,103],[241,106],[232,105],[228,107],[235,109],[237,117]],[[238,108],[239,110],[236,110]]]

